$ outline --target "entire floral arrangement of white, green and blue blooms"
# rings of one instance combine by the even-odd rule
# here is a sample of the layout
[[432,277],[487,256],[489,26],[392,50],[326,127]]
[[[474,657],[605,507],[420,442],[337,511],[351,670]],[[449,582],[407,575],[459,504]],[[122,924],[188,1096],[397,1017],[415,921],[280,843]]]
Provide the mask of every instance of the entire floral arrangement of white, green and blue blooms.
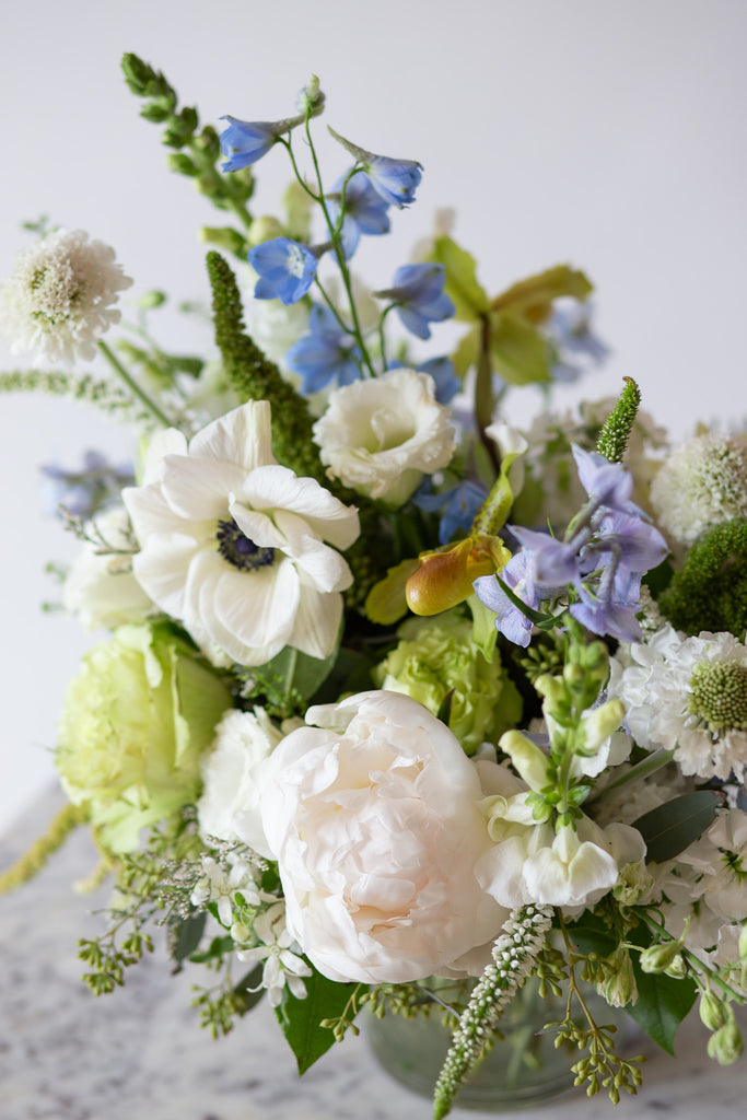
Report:
[[[327,183],[316,78],[296,115],[227,116],[218,137],[161,74],[123,67],[225,223],[203,230],[217,356],[158,345],[155,291],[105,343],[131,281],[80,231],[37,227],[0,289],[13,349],[49,366],[0,386],[118,414],[142,449],[132,470],[97,452],[46,468],[82,542],[64,607],[111,633],[59,721],[69,804],[3,887],[87,823],[92,880],[114,880],[80,945],[96,993],[157,924],[177,968],[211,970],[203,1024],[225,1033],[267,996],[301,1073],[365,1005],[442,1015],[436,1117],[529,978],[564,992],[545,1029],[589,1094],[635,1092],[641,1060],[582,981],[670,1052],[697,1004],[709,1054],[736,1060],[746,437],[672,448],[631,379],[553,412],[553,383],[605,356],[568,265],[491,297],[441,227],[367,290],[351,262],[422,168],[330,129]],[[255,216],[273,149],[293,179]],[[452,353],[415,353],[450,318]],[[105,375],[67,372],[94,356]],[[503,403],[526,385],[542,410],[522,432]]]

